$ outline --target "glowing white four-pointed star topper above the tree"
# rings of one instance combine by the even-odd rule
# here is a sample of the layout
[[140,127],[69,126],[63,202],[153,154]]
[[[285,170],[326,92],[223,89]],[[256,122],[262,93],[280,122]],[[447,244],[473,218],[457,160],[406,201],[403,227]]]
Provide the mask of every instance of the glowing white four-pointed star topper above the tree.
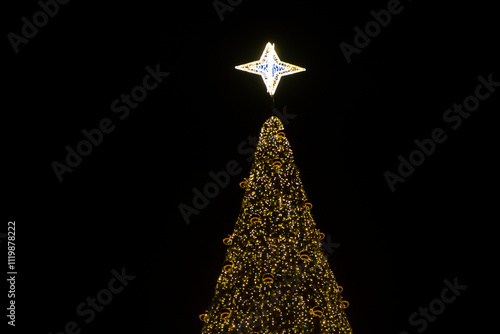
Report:
[[282,76],[306,70],[305,68],[282,62],[276,51],[274,51],[274,44],[271,43],[267,43],[260,60],[239,65],[235,68],[237,70],[260,74],[271,96],[274,96],[274,92]]

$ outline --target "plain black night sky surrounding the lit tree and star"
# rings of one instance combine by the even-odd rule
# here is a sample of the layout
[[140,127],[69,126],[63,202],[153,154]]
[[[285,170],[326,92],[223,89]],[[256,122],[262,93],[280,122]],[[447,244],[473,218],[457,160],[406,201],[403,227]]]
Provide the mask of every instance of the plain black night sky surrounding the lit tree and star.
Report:
[[[4,36],[40,10],[36,1],[4,6]],[[488,328],[500,89],[457,130],[442,116],[474,93],[479,75],[500,81],[498,15],[480,2],[402,6],[350,64],[339,44],[353,44],[353,28],[387,1],[246,0],[223,21],[211,1],[71,1],[18,54],[5,37],[13,332],[59,333],[72,320],[82,334],[201,332],[250,170],[237,148],[271,115],[261,78],[234,66],[257,60],[268,41],[307,69],[281,80],[275,105],[296,115],[285,132],[313,216],[341,244],[329,262],[354,332],[416,333],[408,317],[455,277],[467,289],[425,332]],[[170,76],[119,120],[111,102],[156,64]],[[103,118],[115,130],[60,183],[51,163]],[[384,172],[437,127],[447,140],[391,192]],[[178,205],[192,205],[192,189],[231,160],[243,171],[186,224]],[[84,323],[77,305],[123,267],[135,279]]]

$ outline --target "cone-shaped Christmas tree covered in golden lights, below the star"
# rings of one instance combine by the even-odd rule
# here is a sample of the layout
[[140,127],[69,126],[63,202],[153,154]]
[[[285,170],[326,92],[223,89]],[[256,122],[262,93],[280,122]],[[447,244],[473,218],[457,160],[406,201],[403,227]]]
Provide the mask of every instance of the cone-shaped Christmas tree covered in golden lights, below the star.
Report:
[[352,333],[283,124],[262,127],[202,334]]

